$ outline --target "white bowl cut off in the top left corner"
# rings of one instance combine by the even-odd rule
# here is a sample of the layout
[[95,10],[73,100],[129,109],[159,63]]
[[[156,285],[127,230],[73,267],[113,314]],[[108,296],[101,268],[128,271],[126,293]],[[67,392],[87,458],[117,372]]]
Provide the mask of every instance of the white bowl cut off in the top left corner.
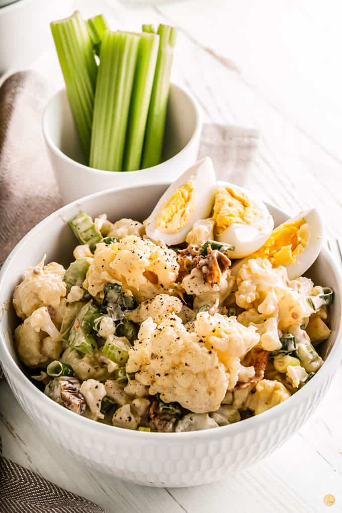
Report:
[[72,2],[17,0],[0,8],[0,76],[30,66],[52,43],[50,22],[70,14]]

